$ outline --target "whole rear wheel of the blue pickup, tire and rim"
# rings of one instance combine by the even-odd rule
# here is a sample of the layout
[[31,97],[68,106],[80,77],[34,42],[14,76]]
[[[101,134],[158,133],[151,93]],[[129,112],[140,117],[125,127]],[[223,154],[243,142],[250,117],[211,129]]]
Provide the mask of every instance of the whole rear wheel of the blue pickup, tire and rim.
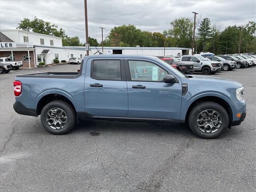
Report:
[[41,122],[44,128],[52,134],[66,134],[76,124],[76,113],[68,102],[52,101],[42,109]]

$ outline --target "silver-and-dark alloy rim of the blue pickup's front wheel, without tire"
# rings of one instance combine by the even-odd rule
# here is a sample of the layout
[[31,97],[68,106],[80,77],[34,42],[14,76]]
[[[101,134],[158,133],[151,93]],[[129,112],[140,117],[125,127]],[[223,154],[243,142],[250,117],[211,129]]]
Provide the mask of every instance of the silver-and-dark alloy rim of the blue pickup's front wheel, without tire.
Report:
[[222,117],[213,109],[207,109],[197,116],[197,127],[204,133],[214,133],[219,130],[222,125]]

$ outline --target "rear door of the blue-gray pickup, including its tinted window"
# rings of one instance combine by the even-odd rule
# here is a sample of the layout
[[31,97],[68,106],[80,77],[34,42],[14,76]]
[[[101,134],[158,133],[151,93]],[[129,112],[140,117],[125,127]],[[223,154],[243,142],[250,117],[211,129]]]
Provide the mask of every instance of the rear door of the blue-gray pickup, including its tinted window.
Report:
[[90,58],[84,82],[85,111],[94,116],[128,116],[124,58]]

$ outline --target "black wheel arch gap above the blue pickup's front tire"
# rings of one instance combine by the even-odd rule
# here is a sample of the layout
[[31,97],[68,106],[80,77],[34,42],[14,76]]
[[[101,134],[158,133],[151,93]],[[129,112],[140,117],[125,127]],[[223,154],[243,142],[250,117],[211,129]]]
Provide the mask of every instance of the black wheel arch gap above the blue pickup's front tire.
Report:
[[[226,100],[224,100],[223,98],[220,98],[218,96],[203,96],[200,98],[197,98],[196,100],[194,100],[190,106],[188,107],[188,110],[186,112],[186,118],[185,118],[185,122],[188,122],[188,115],[190,114],[190,111],[192,110],[192,108],[194,106],[196,106],[196,104],[200,103],[200,102],[206,102],[206,101],[212,101],[212,102],[216,102],[218,104],[220,104],[221,106],[224,107],[224,109],[227,111],[228,113],[228,117],[229,117],[229,124],[233,121],[233,112],[232,112],[232,108],[230,107],[230,104],[228,104],[228,102]],[[230,126],[230,125],[229,125]]]

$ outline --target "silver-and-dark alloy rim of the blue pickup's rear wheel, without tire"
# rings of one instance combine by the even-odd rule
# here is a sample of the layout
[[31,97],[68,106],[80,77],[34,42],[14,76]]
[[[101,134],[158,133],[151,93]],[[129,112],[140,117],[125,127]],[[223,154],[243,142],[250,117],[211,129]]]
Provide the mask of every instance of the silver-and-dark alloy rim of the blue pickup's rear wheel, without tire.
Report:
[[46,122],[50,128],[59,130],[66,126],[68,118],[64,110],[52,108],[46,114]]

